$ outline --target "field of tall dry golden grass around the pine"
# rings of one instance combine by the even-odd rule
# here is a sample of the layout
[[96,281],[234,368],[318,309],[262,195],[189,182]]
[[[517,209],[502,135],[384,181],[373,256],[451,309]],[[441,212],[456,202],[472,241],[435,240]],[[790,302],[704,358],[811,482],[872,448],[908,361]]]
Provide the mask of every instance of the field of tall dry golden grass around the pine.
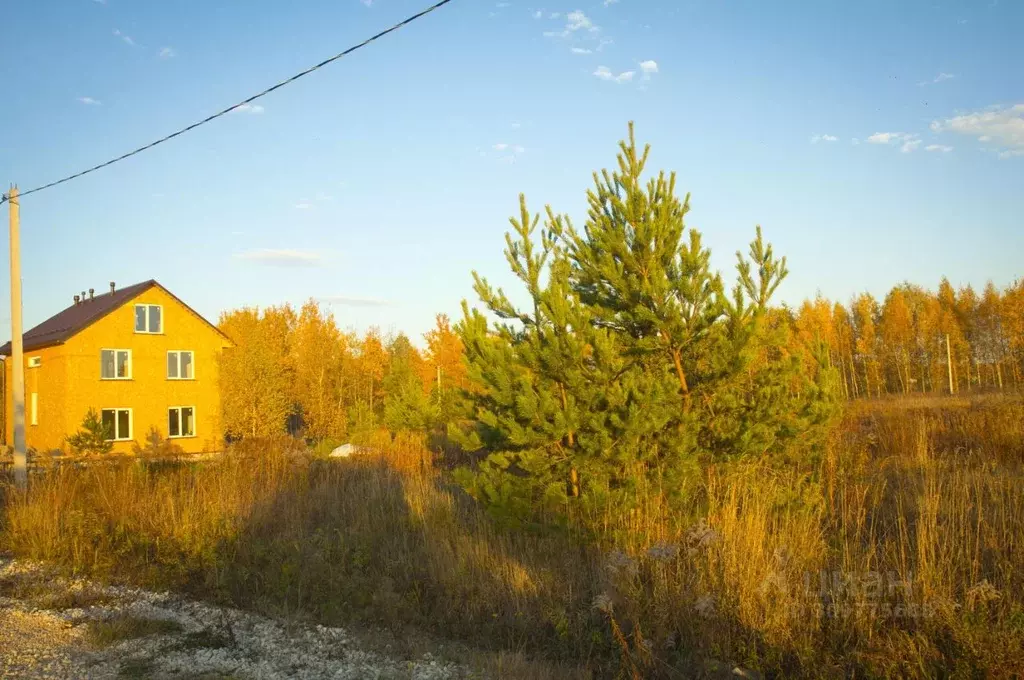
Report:
[[5,497],[15,555],[560,665],[523,676],[1024,676],[1020,397],[853,403],[816,457],[709,467],[688,508],[649,490],[586,533],[495,525],[401,438],[63,466]]

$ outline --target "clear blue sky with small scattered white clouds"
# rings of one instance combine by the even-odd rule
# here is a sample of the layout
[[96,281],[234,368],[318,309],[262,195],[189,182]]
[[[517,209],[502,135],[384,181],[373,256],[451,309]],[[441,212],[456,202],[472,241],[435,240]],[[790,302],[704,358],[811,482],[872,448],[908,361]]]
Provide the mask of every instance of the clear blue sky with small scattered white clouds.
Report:
[[[8,3],[0,180],[124,153],[426,4]],[[312,297],[418,340],[474,299],[471,269],[509,283],[520,192],[582,223],[630,120],[727,280],[760,223],[791,303],[1004,286],[1024,274],[1022,27],[1009,0],[454,0],[259,108],[27,197],[26,325],[155,278],[211,320]]]

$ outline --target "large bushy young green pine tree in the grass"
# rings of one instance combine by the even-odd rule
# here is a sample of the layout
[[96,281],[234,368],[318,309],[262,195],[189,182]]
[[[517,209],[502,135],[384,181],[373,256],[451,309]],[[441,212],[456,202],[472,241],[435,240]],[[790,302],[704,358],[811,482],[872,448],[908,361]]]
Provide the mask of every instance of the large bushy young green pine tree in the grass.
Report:
[[582,230],[548,208],[538,243],[540,216],[520,197],[505,254],[522,305],[473,273],[499,323],[463,303],[479,389],[461,442],[483,458],[462,478],[502,515],[628,506],[647,482],[672,496],[701,456],[779,450],[830,413],[835,372],[804,372],[792,317],[769,304],[784,259],[759,228],[726,296],[687,233],[689,197],[674,175],[643,181],[647,156],[631,126],[618,169],[594,176]]

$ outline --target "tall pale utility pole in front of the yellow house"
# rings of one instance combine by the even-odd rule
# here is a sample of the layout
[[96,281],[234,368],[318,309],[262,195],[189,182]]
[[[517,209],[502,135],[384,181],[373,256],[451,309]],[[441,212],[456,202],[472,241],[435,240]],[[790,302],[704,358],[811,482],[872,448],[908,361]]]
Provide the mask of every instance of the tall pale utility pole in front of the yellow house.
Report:
[[25,358],[22,348],[22,239],[17,187],[11,186],[7,208],[10,215],[10,360],[11,405],[14,426],[14,485],[25,491],[29,483],[25,447]]

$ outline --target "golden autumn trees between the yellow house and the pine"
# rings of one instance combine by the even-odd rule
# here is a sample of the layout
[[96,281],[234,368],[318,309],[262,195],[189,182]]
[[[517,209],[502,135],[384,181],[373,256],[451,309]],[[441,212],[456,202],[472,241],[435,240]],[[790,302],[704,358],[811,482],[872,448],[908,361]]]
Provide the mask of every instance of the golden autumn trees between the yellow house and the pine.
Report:
[[232,340],[220,360],[223,427],[228,438],[289,432],[311,441],[360,433],[431,430],[467,388],[462,343],[442,314],[425,350],[408,336],[342,331],[310,300],[221,314]]

